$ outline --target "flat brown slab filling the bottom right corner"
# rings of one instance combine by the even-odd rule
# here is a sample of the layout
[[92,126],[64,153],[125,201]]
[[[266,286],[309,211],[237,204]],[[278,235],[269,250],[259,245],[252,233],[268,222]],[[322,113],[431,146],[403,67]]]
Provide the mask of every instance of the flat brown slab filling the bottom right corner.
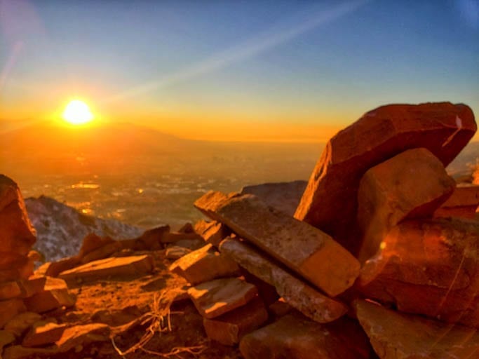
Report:
[[479,333],[461,325],[445,325],[365,301],[356,314],[381,359],[472,359],[479,353]]

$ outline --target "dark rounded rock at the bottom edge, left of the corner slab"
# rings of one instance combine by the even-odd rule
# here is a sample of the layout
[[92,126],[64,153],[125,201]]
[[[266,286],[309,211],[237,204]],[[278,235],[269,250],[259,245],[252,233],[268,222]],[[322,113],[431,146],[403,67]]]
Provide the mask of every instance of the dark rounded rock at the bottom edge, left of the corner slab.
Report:
[[245,359],[366,359],[367,337],[357,323],[342,318],[319,324],[300,316],[283,316],[241,339]]

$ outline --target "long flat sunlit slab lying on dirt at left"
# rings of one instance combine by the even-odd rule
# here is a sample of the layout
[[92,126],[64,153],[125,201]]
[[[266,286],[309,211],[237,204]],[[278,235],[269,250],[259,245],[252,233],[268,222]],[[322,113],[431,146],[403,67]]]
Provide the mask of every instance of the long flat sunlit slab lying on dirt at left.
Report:
[[153,269],[154,261],[150,255],[112,257],[62,271],[58,277],[65,280],[90,280],[109,276],[142,276]]

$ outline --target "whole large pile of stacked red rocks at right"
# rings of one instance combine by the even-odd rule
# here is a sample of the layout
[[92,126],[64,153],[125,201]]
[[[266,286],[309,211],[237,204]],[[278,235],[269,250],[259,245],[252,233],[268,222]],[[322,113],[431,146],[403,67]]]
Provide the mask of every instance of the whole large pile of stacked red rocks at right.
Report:
[[245,358],[479,355],[478,187],[445,171],[475,130],[463,104],[379,107],[328,142],[295,217],[271,184],[199,198],[230,234],[170,269],[208,336]]

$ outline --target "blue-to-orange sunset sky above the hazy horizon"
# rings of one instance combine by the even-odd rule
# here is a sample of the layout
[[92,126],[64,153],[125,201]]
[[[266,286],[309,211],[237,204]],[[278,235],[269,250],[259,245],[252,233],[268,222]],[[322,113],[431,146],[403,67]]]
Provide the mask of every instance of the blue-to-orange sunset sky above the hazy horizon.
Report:
[[324,141],[391,102],[477,118],[479,1],[0,0],[0,131],[73,98],[202,140]]

